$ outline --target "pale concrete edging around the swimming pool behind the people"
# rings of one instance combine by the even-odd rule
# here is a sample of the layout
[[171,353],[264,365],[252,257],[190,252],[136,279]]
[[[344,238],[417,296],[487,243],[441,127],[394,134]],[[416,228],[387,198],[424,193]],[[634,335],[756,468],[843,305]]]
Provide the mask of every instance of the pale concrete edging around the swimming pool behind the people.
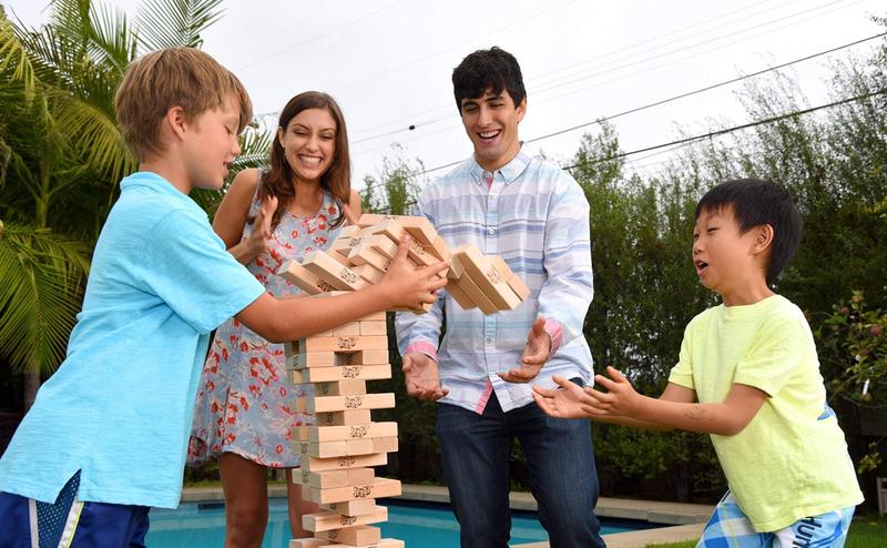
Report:
[[[286,486],[272,484],[268,486],[269,497],[286,497]],[[187,487],[182,493],[183,503],[223,500],[221,487]],[[446,487],[404,484],[405,500],[449,504]],[[536,500],[529,493],[512,493],[511,509],[536,511]],[[645,529],[640,531],[604,535],[610,548],[643,548],[653,544],[679,542],[700,538],[702,527],[714,509],[707,505],[690,505],[681,503],[657,503],[653,500],[632,500],[624,498],[602,497],[598,500],[595,514],[604,518],[638,519],[671,527]],[[514,548],[548,548],[548,542],[516,545]]]

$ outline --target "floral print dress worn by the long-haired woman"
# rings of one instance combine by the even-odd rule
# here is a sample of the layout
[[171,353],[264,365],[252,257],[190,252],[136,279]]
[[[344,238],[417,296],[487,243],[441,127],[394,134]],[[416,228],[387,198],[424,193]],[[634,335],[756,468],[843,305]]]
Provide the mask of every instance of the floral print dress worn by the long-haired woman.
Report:
[[[253,197],[249,216],[258,212]],[[278,276],[288,260],[302,261],[312,251],[325,248],[339,229],[329,223],[339,207],[324,192],[320,209],[312,216],[284,213],[274,230],[268,250],[246,267],[274,296],[299,293]],[[252,232],[246,225],[243,239]],[[294,385],[286,378],[284,345],[268,343],[245,325],[231,318],[216,331],[203,367],[188,443],[188,464],[222,453],[236,453],[269,467],[295,467],[293,426],[314,424],[314,416],[296,410],[296,398],[313,395],[310,385]]]

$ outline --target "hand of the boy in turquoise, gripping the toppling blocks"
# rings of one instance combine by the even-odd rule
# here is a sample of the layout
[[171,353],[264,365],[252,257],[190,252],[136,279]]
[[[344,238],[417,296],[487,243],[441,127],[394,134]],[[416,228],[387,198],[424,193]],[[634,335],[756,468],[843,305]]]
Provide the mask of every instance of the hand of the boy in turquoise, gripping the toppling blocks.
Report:
[[388,303],[386,308],[418,308],[425,303],[434,303],[437,290],[447,285],[447,277],[438,276],[449,266],[446,262],[417,268],[407,258],[408,251],[408,239],[404,237],[388,272],[376,284]]

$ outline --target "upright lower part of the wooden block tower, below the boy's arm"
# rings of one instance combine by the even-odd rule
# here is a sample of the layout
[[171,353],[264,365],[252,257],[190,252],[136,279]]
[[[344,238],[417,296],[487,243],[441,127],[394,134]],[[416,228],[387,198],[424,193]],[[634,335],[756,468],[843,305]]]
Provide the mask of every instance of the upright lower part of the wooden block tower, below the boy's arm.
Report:
[[315,536],[292,540],[290,548],[402,547],[371,526],[388,519],[376,498],[400,495],[400,481],[377,478],[373,469],[397,450],[397,423],[374,423],[370,416],[370,409],[394,407],[395,395],[367,394],[366,384],[391,376],[385,313],[287,343],[286,356],[293,383],[314,384],[314,397],[296,406],[317,419],[316,426],[294,428],[302,468],[293,480],[303,498],[324,509],[303,516],[303,527]]

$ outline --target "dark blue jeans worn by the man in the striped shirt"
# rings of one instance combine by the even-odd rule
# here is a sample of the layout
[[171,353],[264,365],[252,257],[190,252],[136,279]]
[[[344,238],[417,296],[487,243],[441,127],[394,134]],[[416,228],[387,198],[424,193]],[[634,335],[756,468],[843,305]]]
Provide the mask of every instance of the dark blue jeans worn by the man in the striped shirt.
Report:
[[503,413],[493,393],[483,415],[439,404],[437,436],[462,548],[508,546],[509,456],[516,436],[551,547],[604,546],[594,516],[598,471],[588,420],[552,418],[536,404]]

